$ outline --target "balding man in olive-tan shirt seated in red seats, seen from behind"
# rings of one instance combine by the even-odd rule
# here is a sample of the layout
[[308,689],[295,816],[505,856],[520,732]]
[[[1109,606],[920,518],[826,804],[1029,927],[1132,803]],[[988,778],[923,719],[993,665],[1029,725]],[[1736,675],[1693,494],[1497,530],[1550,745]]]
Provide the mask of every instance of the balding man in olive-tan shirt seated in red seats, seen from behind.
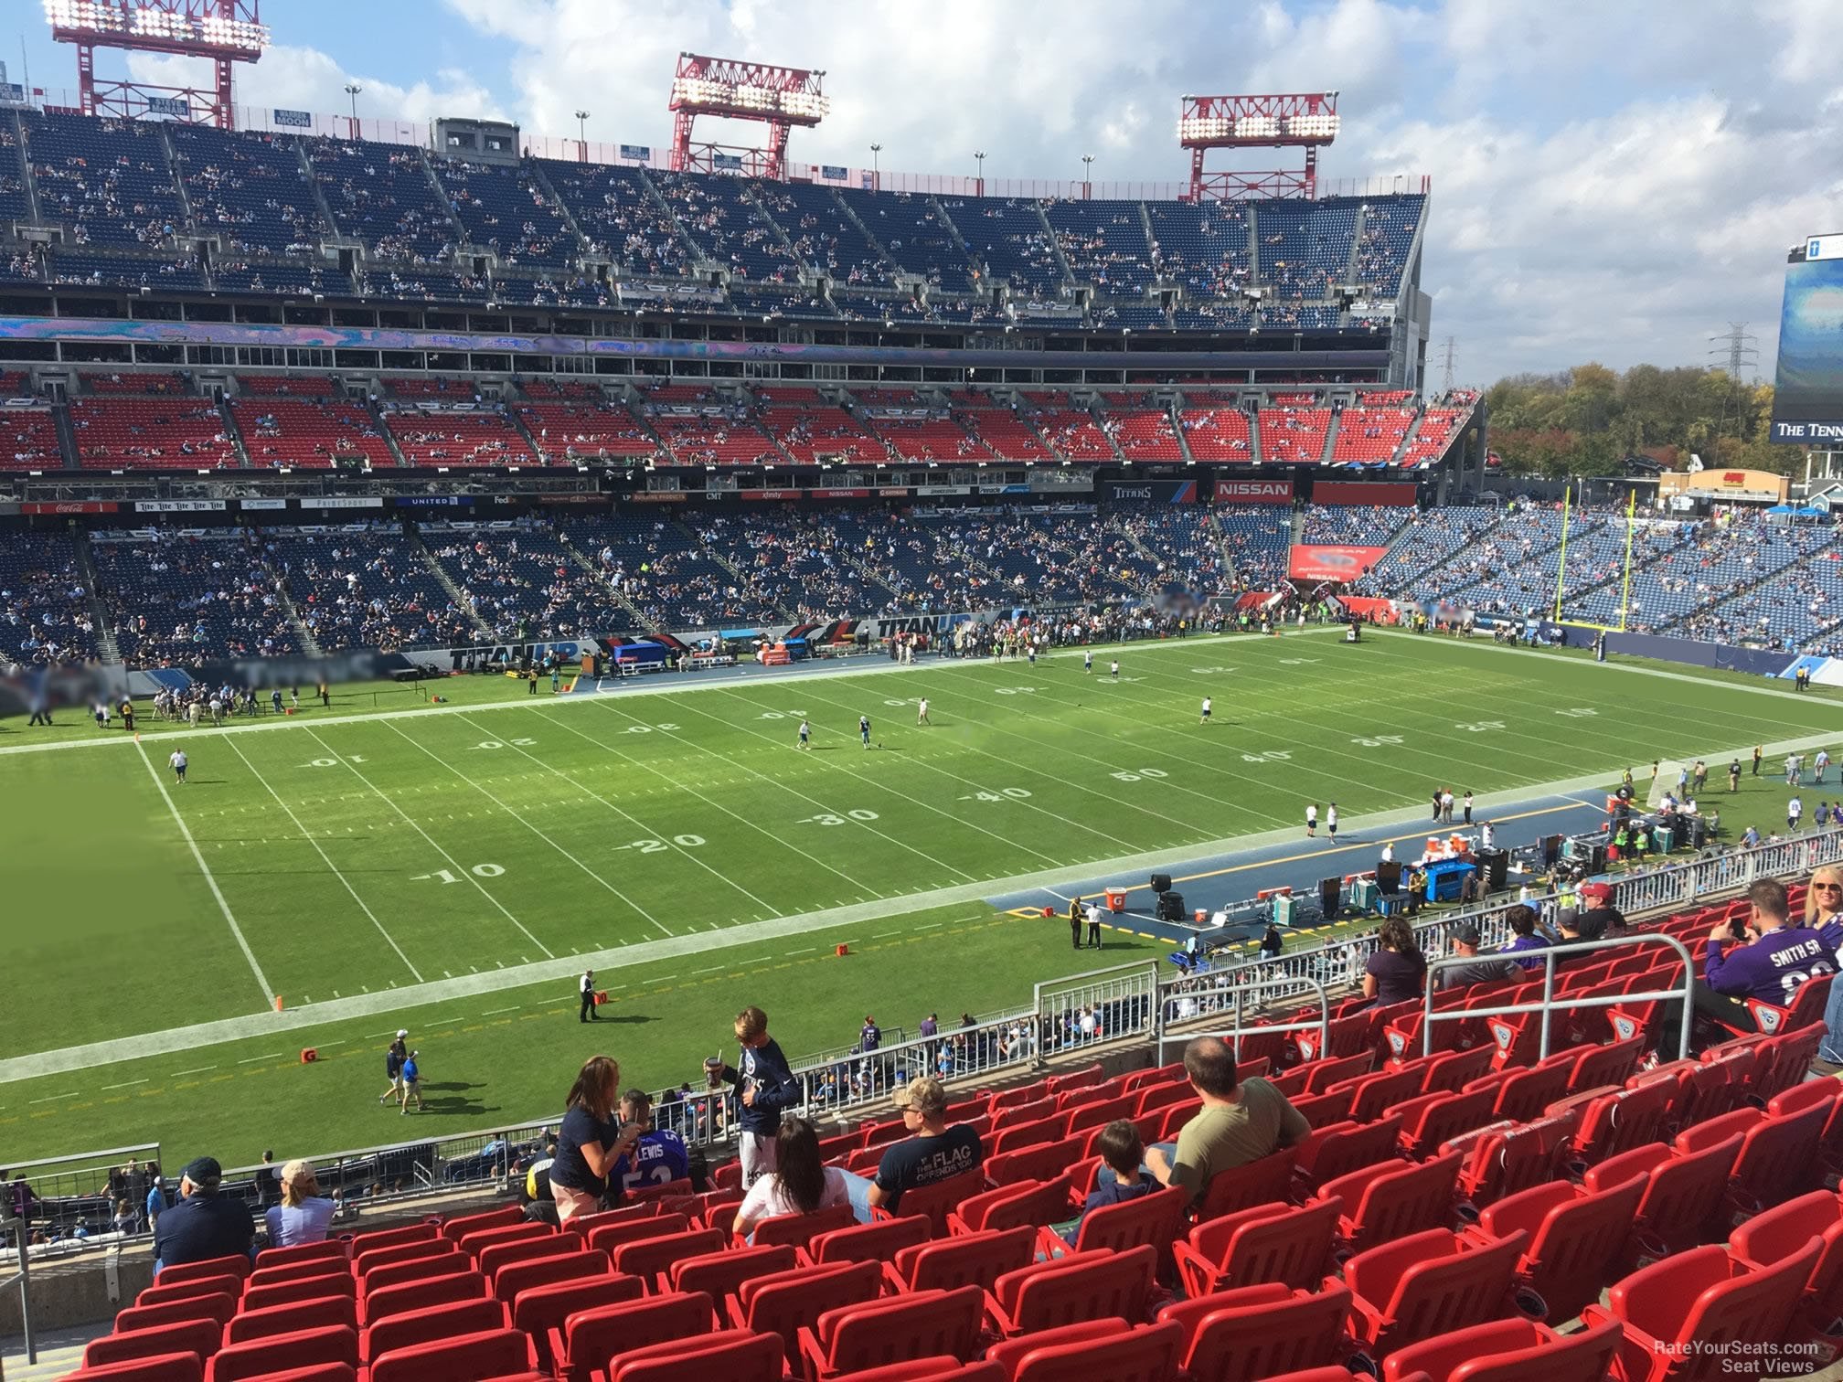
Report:
[[[1183,1072],[1203,1107],[1178,1130],[1178,1141],[1146,1148],[1145,1166],[1159,1185],[1180,1187],[1189,1203],[1209,1194],[1226,1170],[1246,1166],[1294,1146],[1312,1126],[1266,1080],[1237,1080],[1235,1052],[1220,1037],[1196,1037],[1183,1048]],[[1100,1183],[1119,1179],[1108,1166]]]

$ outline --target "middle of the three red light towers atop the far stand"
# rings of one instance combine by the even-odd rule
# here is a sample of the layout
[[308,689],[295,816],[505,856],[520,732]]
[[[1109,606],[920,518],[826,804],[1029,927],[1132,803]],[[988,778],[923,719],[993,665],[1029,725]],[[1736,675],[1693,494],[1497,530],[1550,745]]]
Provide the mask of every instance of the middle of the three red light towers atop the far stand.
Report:
[[[787,173],[787,135],[794,125],[816,125],[831,103],[820,90],[824,72],[745,63],[734,57],[678,53],[673,74],[673,170],[686,173],[743,171],[780,181]],[[693,144],[691,122],[700,114],[754,120],[769,127],[769,147]]]

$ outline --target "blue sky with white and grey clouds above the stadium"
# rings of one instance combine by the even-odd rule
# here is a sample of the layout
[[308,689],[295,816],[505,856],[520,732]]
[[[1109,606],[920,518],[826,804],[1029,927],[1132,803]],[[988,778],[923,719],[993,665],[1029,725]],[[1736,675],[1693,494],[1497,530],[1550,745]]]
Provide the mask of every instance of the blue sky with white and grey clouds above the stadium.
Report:
[[[361,116],[573,136],[588,109],[592,140],[663,146],[673,63],[700,52],[826,70],[796,160],[877,142],[885,171],[971,173],[984,149],[988,179],[1073,179],[1093,153],[1097,181],[1180,181],[1180,94],[1338,90],[1325,177],[1432,177],[1423,286],[1471,383],[1703,363],[1734,321],[1769,378],[1788,245],[1843,232],[1839,0],[267,0],[264,20],[251,105],[343,112],[358,81]],[[24,52],[35,87],[74,85],[42,22]]]

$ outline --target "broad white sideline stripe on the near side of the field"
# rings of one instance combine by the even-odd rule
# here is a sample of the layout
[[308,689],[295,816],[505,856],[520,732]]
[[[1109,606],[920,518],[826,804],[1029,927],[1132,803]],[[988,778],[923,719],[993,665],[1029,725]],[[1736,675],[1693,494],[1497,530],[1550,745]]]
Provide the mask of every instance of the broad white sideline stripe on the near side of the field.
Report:
[[[1646,671],[1646,669],[1635,669]],[[1694,680],[1694,678],[1692,678]],[[1797,693],[1784,693],[1797,695]],[[1784,739],[1766,744],[1767,754],[1791,754],[1801,750],[1825,748],[1836,741],[1836,735],[1806,735],[1802,739]],[[1705,757],[1708,761],[1720,761],[1723,757],[1751,755],[1753,744],[1745,748],[1723,748],[1710,750]],[[151,770],[151,765],[149,765]],[[1502,792],[1485,792],[1476,798],[1476,811],[1493,811],[1506,805],[1520,805],[1524,802],[1535,802],[1543,798],[1561,798],[1572,792],[1603,792],[1607,781],[1616,774],[1616,768],[1605,772],[1587,774],[1581,778],[1567,778],[1550,783],[1532,783],[1524,787],[1506,789]],[[1714,798],[1720,803],[1720,794]],[[1344,822],[1349,835],[1393,829],[1401,826],[1423,826],[1426,822],[1425,803],[1414,803],[1401,807],[1399,811],[1384,811],[1369,816],[1353,816]],[[848,907],[828,907],[818,912],[800,912],[794,916],[776,916],[767,921],[746,921],[743,925],[726,927],[722,931],[702,931],[689,932],[684,936],[673,936],[667,940],[649,940],[638,945],[617,945],[614,949],[593,951],[586,955],[571,955],[553,960],[538,960],[523,966],[507,966],[505,969],[492,969],[479,975],[459,975],[453,978],[439,978],[426,984],[411,984],[391,990],[382,990],[378,993],[363,993],[348,999],[330,999],[321,1002],[306,1002],[297,1008],[288,1008],[284,1012],[260,1012],[243,1017],[223,1017],[212,1023],[195,1023],[192,1026],[175,1026],[164,1032],[146,1032],[142,1036],[112,1037],[109,1041],[92,1041],[81,1047],[63,1047],[59,1050],[44,1050],[29,1056],[13,1056],[9,1060],[0,1060],[0,1083],[11,1083],[15,1080],[35,1080],[48,1074],[65,1074],[70,1071],[87,1071],[98,1065],[114,1065],[120,1061],[138,1060],[144,1056],[166,1056],[181,1050],[197,1050],[201,1047],[212,1047],[225,1041],[241,1041],[252,1036],[269,1036],[278,1032],[297,1032],[310,1026],[324,1026],[330,1023],[343,1023],[354,1017],[370,1017],[378,1013],[394,1013],[405,1008],[418,1008],[429,1002],[446,1002],[450,999],[477,997],[481,993],[498,993],[509,988],[523,988],[527,984],[542,984],[549,980],[558,982],[558,1001],[575,997],[571,982],[584,967],[592,969],[621,969],[638,964],[654,964],[658,960],[676,960],[687,955],[706,955],[717,949],[732,949],[743,945],[757,945],[774,940],[783,940],[787,936],[802,936],[813,931],[826,931],[829,927],[857,925],[863,921],[875,921],[879,918],[905,916],[909,912],[922,912],[934,907],[951,907],[957,903],[984,901],[986,897],[999,897],[1014,892],[1030,892],[1036,888],[1056,888],[1065,886],[1071,881],[1091,879],[1097,873],[1145,873],[1152,868],[1159,870],[1178,870],[1189,862],[1216,859],[1229,853],[1240,853],[1246,849],[1261,849],[1275,844],[1297,842],[1299,827],[1283,826],[1279,829],[1262,831],[1259,835],[1240,835],[1226,840],[1205,840],[1202,844],[1189,846],[1180,855],[1172,849],[1148,849],[1135,855],[1124,855],[1119,859],[1098,859],[1086,864],[1069,864],[1065,868],[1049,868],[1034,873],[1017,873],[1012,877],[995,879],[975,879],[973,883],[955,884],[951,888],[934,888],[931,892],[912,892],[901,897],[883,897],[866,903],[851,903]],[[234,923],[232,923],[234,927]],[[247,949],[247,947],[245,947]],[[254,956],[251,958],[254,964]]]

